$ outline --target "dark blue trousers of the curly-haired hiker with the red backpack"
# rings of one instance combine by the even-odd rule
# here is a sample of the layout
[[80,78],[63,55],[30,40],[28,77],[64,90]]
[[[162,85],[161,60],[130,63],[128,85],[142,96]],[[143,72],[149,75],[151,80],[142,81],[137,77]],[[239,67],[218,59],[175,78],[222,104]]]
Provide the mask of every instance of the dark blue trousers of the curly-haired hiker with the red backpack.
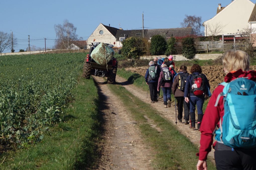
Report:
[[197,107],[197,114],[203,114],[203,104],[205,102],[205,96],[190,96],[190,113],[195,112]]

